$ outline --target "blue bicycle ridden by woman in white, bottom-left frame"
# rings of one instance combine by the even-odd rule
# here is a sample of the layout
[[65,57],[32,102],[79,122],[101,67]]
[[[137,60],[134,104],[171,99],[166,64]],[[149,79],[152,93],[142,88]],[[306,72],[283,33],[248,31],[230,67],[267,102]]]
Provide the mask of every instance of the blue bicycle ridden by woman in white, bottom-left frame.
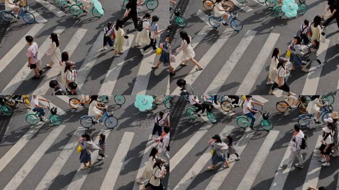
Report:
[[[90,115],[82,116],[80,117],[80,125],[82,127],[89,129],[90,127],[96,124],[96,122],[94,122],[94,119],[95,116]],[[107,109],[105,109],[103,116],[98,121],[99,123],[104,122],[103,124],[105,124],[105,126],[109,129],[113,129],[114,127],[117,126],[118,123],[118,119],[113,116],[113,110]]]

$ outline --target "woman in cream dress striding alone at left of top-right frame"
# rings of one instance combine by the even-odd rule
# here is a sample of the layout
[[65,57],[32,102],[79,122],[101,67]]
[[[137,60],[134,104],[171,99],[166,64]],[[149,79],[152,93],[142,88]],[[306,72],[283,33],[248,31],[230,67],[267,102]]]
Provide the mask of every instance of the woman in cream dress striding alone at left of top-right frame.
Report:
[[181,31],[179,34],[180,34],[180,37],[182,38],[182,43],[181,43],[181,46],[175,50],[175,52],[178,53],[181,50],[183,52],[181,56],[181,61],[183,61],[184,63],[181,63],[181,66],[187,66],[188,60],[191,60],[198,67],[196,70],[201,71],[203,68],[194,59],[195,52],[191,45],[192,38],[188,36],[188,34],[185,31]]

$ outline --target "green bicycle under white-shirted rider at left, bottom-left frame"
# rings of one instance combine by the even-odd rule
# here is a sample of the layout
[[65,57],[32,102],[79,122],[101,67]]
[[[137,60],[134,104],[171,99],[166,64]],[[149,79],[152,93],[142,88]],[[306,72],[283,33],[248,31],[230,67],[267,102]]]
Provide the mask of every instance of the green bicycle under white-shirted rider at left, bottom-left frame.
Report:
[[[60,115],[57,114],[57,109],[56,107],[52,107],[50,103],[48,103],[47,106],[48,110],[50,111],[50,116],[48,117],[48,120],[53,124],[53,125],[60,125],[62,123],[62,118]],[[25,115],[26,122],[30,125],[36,125],[39,121],[43,122],[44,119],[39,115],[39,112],[35,113],[28,113]]]

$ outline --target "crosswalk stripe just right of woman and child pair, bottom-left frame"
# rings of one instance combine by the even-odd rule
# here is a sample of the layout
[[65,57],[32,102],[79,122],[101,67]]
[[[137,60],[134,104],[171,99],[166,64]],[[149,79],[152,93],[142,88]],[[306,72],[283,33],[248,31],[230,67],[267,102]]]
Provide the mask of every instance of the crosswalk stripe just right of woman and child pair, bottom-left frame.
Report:
[[125,132],[122,136],[119,147],[117,148],[114,158],[111,162],[110,168],[108,169],[105,179],[101,185],[100,190],[113,190],[118,175],[120,173],[123,161],[126,157],[129,146],[132,143],[134,133]]

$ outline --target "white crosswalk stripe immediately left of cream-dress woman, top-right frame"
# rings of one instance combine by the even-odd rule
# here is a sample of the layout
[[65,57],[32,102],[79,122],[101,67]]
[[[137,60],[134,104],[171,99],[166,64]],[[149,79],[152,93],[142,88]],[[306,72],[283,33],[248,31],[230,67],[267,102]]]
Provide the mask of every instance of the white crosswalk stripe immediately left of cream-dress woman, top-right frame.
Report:
[[236,95],[249,95],[251,89],[257,80],[259,74],[261,73],[262,68],[264,67],[267,58],[269,57],[269,52],[272,51],[274,45],[278,41],[280,34],[270,33],[270,36],[267,38],[263,48],[260,50],[257,58],[255,59],[252,67],[245,76],[244,80],[241,82],[240,87],[238,88]]

